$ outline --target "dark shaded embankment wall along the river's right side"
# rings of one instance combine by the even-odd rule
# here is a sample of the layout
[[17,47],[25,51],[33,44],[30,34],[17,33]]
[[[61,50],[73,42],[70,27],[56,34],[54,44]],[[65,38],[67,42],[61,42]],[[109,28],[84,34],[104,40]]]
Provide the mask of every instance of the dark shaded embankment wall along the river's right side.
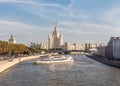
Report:
[[120,68],[120,61],[118,60],[110,60],[105,57],[96,56],[96,55],[86,55],[86,56],[101,63]]

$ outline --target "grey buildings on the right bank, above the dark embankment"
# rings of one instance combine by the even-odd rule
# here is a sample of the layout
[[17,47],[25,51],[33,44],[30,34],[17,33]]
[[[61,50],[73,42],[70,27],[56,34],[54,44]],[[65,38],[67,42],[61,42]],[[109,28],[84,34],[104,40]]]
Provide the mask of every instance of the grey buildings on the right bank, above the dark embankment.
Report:
[[107,46],[98,47],[97,54],[108,59],[120,59],[120,37],[111,37]]

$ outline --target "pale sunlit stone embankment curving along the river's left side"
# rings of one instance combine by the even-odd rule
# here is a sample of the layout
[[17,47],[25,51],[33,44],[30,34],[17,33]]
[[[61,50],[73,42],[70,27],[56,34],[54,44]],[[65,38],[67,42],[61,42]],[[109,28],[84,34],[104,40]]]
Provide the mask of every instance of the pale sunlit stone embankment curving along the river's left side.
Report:
[[6,69],[8,69],[8,68],[18,64],[19,62],[22,62],[22,61],[25,61],[25,60],[39,58],[40,56],[44,56],[44,55],[20,57],[20,58],[15,58],[12,61],[10,61],[10,60],[0,61],[0,73],[5,71]]

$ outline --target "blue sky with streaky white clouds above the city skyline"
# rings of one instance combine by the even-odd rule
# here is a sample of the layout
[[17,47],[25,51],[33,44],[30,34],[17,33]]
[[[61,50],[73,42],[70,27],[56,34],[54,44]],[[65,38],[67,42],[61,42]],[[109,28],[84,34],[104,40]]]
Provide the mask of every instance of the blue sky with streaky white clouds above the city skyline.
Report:
[[0,0],[0,40],[47,43],[55,21],[64,42],[107,43],[120,36],[120,0]]

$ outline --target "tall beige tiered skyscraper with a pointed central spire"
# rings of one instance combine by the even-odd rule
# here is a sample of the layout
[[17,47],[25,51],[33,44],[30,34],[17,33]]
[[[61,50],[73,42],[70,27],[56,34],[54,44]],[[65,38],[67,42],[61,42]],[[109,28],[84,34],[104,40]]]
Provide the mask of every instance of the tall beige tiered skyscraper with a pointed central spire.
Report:
[[63,36],[59,34],[56,24],[52,35],[48,36],[48,48],[60,49],[62,48],[62,45],[63,45]]

